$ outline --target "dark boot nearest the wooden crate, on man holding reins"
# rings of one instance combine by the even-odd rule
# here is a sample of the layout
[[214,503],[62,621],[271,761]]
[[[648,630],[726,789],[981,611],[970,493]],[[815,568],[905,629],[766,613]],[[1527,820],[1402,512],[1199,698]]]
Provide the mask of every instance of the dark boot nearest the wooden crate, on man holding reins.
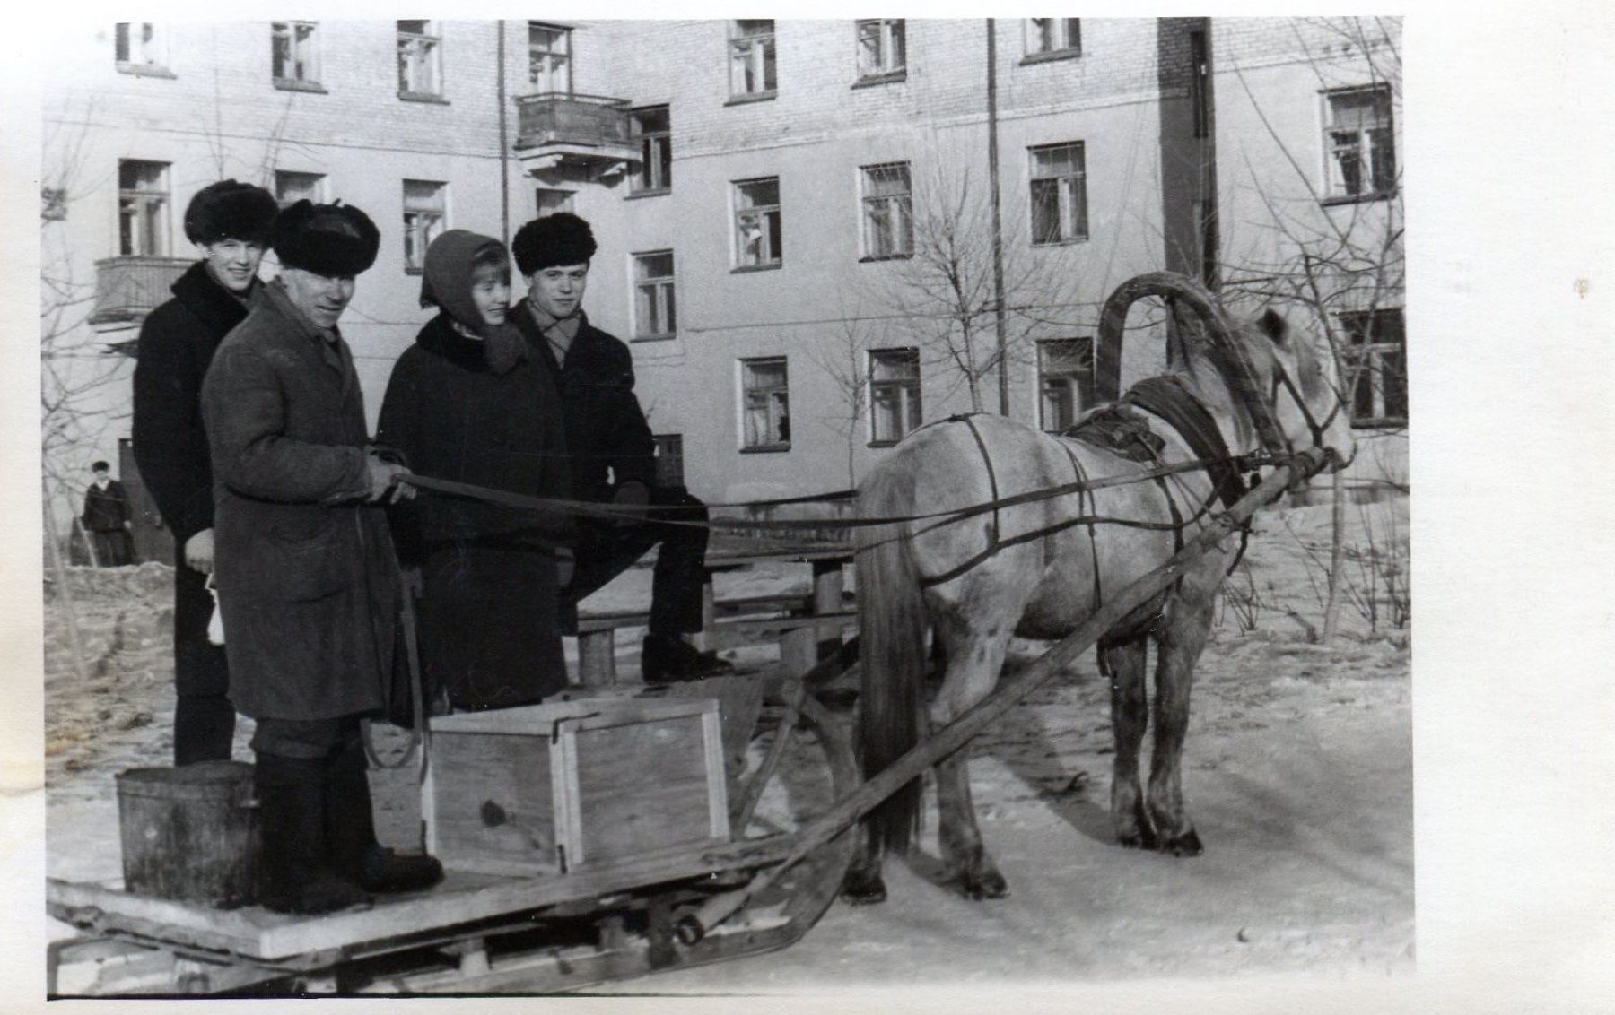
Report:
[[325,770],[325,829],[336,870],[370,892],[412,892],[443,881],[436,857],[402,855],[376,842],[365,746],[349,737]]

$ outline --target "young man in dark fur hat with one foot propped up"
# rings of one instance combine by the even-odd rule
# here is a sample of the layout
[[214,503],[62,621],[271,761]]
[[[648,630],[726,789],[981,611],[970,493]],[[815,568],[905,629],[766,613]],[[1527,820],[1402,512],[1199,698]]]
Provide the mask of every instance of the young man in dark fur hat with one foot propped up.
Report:
[[[528,284],[526,299],[510,318],[556,378],[573,497],[623,507],[677,507],[683,510],[659,516],[706,521],[706,505],[688,491],[656,484],[656,444],[633,394],[633,355],[620,339],[591,326],[583,313],[589,260],[596,250],[589,224],[568,211],[546,215],[522,226],[510,245]],[[706,528],[654,520],[627,524],[583,520],[562,624],[575,631],[578,600],[657,544],[651,620],[641,657],[644,681],[732,671],[728,663],[711,652],[698,652],[683,637],[701,631]]]

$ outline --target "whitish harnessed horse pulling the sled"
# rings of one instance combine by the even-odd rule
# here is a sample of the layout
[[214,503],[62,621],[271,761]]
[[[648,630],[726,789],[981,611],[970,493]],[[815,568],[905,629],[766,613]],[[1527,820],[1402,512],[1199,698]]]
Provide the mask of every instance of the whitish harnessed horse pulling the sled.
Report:
[[[1195,292],[1203,297],[1203,290]],[[993,689],[1011,636],[1069,634],[1106,594],[1164,563],[1200,531],[1218,507],[1219,482],[1224,500],[1244,489],[1232,466],[1214,473],[1185,466],[1160,474],[1168,471],[1163,466],[1203,460],[1208,442],[1218,439],[1226,455],[1261,453],[1263,432],[1269,436],[1266,450],[1274,450],[1274,437],[1282,434],[1290,450],[1324,449],[1334,470],[1352,460],[1355,442],[1339,394],[1308,342],[1292,337],[1279,315],[1269,310],[1240,328],[1213,328],[1206,339],[1181,340],[1174,349],[1177,361],[1168,379],[1142,382],[1122,400],[1135,400],[1134,426],[1142,423],[1158,437],[1140,437],[1156,445],[1143,462],[1001,416],[975,415],[916,431],[862,482],[864,518],[932,516],[870,526],[859,534],[859,741],[866,778],[927,733],[927,633],[933,636],[930,652],[945,662],[930,704],[930,721],[940,728]],[[1172,407],[1163,407],[1163,391],[1187,395],[1187,402],[1166,397],[1181,403],[1179,411],[1168,411]],[[1197,420],[1203,426],[1195,428]],[[1208,428],[1214,434],[1182,432]],[[1126,474],[1140,478],[1084,494],[1037,497],[1038,491],[1074,481]],[[1016,495],[1029,497],[993,512],[935,518]],[[1126,846],[1174,855],[1202,850],[1184,810],[1179,776],[1189,687],[1216,591],[1240,547],[1242,537],[1226,537],[1181,581],[1100,639],[1116,741],[1111,817]],[[1151,718],[1145,691],[1150,639],[1156,644],[1155,752],[1145,792],[1139,747]],[[966,754],[956,752],[935,766],[942,858],[946,876],[967,897],[998,897],[1008,888],[975,826]],[[866,818],[862,849],[846,879],[851,900],[885,897],[880,855],[883,849],[908,847],[919,820],[919,786],[917,779],[909,783]]]

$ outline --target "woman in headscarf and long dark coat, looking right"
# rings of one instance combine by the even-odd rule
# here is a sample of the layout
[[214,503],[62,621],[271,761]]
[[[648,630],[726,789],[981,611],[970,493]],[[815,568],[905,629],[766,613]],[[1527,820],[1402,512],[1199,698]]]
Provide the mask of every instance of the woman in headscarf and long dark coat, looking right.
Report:
[[[510,253],[451,229],[431,242],[422,305],[434,316],[399,357],[376,442],[412,473],[531,497],[567,497],[560,400],[505,323]],[[530,705],[565,687],[557,591],[570,578],[560,513],[423,492],[397,505],[394,537],[422,570],[428,695],[457,710]]]

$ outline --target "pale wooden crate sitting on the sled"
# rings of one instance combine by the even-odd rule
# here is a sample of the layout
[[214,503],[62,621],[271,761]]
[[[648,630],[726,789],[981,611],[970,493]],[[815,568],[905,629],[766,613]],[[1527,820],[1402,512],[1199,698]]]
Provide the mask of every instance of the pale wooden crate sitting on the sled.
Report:
[[565,873],[728,839],[714,699],[593,697],[434,718],[426,844],[454,870]]

